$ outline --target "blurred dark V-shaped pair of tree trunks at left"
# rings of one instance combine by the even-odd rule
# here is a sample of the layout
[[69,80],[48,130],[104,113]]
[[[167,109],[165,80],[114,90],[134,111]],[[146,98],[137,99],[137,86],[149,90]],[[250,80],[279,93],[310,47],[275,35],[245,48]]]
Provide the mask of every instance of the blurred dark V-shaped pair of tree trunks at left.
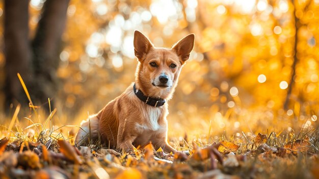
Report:
[[5,1],[6,107],[28,101],[17,78],[20,73],[35,101],[55,97],[61,35],[69,0],[47,0],[34,39],[29,38],[29,1]]

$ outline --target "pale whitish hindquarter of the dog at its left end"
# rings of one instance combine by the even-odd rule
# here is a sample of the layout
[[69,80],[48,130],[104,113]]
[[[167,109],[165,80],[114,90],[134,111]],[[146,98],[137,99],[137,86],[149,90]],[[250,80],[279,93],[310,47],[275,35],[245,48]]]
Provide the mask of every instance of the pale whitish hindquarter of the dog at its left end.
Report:
[[98,122],[96,114],[81,122],[81,127],[75,137],[75,146],[88,145],[98,140]]

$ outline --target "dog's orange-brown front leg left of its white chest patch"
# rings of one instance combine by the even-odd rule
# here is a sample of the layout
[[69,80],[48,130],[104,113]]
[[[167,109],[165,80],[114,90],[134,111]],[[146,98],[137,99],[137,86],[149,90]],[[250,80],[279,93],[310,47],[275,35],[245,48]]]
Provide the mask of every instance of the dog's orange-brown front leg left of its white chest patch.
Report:
[[119,124],[117,148],[129,153],[134,151],[134,145],[132,143],[137,138],[137,133],[128,127],[126,121],[128,120],[125,119]]

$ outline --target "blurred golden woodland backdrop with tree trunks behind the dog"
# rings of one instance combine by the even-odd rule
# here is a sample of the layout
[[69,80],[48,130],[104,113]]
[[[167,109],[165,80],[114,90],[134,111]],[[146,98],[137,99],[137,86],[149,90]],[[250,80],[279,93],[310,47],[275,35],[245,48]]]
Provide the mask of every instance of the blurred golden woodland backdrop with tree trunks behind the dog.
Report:
[[37,110],[48,112],[51,99],[59,125],[98,112],[134,82],[139,30],[157,47],[196,34],[169,101],[170,135],[317,126],[318,0],[2,0],[0,8],[2,124],[17,104],[31,114],[17,72]]

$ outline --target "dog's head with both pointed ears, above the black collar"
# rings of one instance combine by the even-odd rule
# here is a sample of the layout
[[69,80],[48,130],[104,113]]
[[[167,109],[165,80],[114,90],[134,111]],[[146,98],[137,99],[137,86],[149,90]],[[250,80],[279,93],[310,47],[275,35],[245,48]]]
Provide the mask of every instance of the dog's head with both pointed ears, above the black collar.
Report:
[[136,83],[145,95],[170,98],[180,70],[190,57],[195,35],[190,34],[172,48],[156,48],[141,32],[134,33],[134,51],[139,60]]

